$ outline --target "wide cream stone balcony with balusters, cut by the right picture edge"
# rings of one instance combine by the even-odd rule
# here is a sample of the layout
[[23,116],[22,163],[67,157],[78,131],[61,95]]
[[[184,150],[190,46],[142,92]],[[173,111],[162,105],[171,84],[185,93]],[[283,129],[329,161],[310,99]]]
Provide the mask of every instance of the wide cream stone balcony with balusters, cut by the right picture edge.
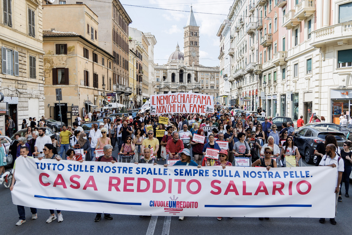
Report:
[[352,24],[345,22],[313,31],[310,45],[315,48],[325,48],[328,44],[345,45],[351,37]]

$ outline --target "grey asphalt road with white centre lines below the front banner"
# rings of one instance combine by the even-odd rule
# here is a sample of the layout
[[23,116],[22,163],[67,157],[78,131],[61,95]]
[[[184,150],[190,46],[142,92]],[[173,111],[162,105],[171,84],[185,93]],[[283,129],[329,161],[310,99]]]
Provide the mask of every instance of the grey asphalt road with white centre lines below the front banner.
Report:
[[[114,150],[117,152],[117,149]],[[10,169],[10,168],[8,168]],[[8,170],[6,169],[6,170]],[[344,195],[344,188],[342,194]],[[350,187],[352,195],[352,189]],[[1,201],[0,228],[2,234],[126,234],[126,235],[178,235],[178,234],[350,234],[352,230],[352,197],[338,203],[337,225],[318,222],[318,218],[270,218],[260,221],[258,218],[233,217],[178,217],[134,215],[112,215],[113,220],[102,218],[94,222],[95,213],[62,211],[64,221],[45,223],[50,212],[38,209],[38,219],[31,220],[31,211],[26,208],[27,222],[15,226],[18,221],[17,206],[12,204],[11,192],[4,185],[0,186]]]

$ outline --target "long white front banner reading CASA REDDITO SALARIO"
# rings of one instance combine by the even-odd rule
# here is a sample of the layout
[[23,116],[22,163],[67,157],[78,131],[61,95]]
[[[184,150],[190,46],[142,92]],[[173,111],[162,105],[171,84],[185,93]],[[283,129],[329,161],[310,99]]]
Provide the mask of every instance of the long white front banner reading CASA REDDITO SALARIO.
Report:
[[335,216],[337,169],[332,167],[267,171],[23,157],[16,161],[16,205],[130,215]]

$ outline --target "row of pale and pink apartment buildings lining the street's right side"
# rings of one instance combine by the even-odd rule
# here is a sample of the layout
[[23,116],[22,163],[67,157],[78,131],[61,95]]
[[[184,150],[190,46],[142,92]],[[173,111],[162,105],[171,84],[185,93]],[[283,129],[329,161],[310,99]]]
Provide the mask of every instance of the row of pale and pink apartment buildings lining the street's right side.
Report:
[[[235,58],[231,93],[238,93],[239,104],[250,109],[261,106],[268,116],[297,120],[303,115],[305,122],[313,113],[334,123],[339,123],[341,112],[349,116],[352,1],[255,0],[247,4],[234,1],[228,16],[235,41],[231,44]],[[242,16],[244,22],[237,21]],[[241,38],[244,25],[247,36]]]

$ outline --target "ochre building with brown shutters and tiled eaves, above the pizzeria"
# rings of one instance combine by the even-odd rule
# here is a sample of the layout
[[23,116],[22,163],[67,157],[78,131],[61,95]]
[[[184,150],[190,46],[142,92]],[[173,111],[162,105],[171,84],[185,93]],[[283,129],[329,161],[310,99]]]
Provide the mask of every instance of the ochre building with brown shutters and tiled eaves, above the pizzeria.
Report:
[[44,5],[43,29],[45,116],[60,120],[56,88],[61,88],[61,112],[67,113],[62,121],[71,125],[73,110],[83,116],[107,105],[114,57],[98,46],[98,16],[85,4]]

